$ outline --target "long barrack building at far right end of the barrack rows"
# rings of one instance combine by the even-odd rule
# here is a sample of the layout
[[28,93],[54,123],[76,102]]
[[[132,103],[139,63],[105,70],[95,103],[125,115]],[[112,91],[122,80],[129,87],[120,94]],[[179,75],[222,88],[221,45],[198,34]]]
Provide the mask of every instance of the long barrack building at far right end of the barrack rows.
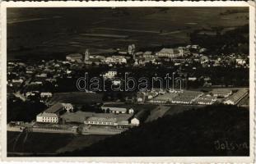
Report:
[[236,105],[249,93],[248,89],[240,89],[236,93],[233,93],[229,98],[226,98],[224,104]]

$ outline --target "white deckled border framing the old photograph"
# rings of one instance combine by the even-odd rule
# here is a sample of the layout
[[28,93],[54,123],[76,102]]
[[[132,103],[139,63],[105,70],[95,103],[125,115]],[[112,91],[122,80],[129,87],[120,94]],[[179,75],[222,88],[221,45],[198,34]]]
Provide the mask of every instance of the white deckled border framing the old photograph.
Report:
[[[7,7],[249,7],[249,157],[7,157]],[[19,162],[255,162],[255,2],[249,1],[49,1],[1,2],[1,156],[3,161]]]

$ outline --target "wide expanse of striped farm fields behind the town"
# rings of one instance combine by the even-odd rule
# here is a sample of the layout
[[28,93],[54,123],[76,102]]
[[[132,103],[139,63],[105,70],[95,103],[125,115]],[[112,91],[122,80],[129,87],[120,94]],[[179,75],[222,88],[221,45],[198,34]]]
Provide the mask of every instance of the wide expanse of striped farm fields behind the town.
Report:
[[38,60],[86,48],[94,53],[127,50],[130,43],[137,49],[189,43],[189,33],[196,29],[248,24],[246,8],[221,14],[232,8],[8,8],[7,57]]

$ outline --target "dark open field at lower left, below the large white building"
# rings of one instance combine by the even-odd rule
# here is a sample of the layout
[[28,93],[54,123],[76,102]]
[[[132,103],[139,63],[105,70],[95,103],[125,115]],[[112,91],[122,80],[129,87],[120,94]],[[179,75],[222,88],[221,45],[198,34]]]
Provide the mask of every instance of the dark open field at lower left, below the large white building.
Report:
[[[20,155],[51,154],[72,151],[94,144],[107,135],[47,134],[7,132],[7,152]],[[24,154],[22,154],[24,153]]]

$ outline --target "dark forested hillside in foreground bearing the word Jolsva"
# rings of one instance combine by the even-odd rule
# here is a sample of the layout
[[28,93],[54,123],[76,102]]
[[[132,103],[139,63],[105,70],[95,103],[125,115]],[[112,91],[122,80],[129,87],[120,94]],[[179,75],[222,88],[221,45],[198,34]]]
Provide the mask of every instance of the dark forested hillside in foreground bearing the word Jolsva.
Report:
[[248,156],[249,111],[209,106],[133,128],[60,156]]

